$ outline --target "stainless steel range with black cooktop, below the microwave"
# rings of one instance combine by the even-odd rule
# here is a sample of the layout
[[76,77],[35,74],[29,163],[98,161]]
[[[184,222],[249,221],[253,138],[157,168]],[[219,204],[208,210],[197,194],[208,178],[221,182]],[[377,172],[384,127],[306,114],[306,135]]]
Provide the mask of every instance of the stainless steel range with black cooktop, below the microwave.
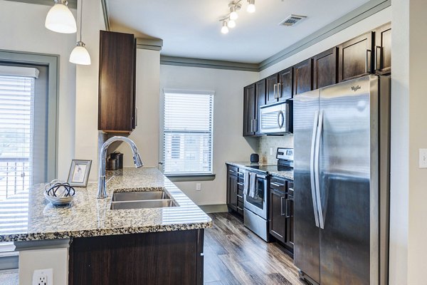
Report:
[[278,147],[276,157],[278,165],[251,165],[247,166],[244,172],[244,224],[265,242],[270,241],[268,232],[269,172],[293,170],[293,149]]

